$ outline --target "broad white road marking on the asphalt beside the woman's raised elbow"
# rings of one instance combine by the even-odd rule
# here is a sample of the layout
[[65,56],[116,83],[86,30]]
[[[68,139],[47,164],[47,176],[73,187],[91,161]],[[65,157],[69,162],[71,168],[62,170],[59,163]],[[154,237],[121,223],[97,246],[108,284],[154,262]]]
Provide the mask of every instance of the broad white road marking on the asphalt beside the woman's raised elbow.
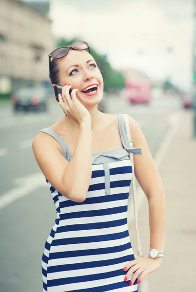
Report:
[[19,185],[0,196],[0,209],[29,195],[39,187],[48,187],[43,174],[40,172],[16,179],[15,183]]

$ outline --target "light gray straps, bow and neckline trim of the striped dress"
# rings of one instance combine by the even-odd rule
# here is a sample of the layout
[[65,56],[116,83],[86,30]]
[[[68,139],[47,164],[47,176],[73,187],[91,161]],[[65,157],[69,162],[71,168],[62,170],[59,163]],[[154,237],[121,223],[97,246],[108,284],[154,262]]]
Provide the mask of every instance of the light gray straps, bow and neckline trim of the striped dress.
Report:
[[[125,119],[123,114],[118,114],[118,125],[121,135],[121,141],[124,146],[122,149],[111,149],[105,152],[92,153],[92,164],[103,164],[105,172],[105,193],[110,194],[110,177],[109,177],[109,166],[108,163],[129,159],[129,153],[142,154],[141,148],[130,148],[129,139],[126,134]],[[51,128],[43,128],[39,132],[44,132],[52,136],[61,146],[63,156],[70,161],[72,155],[70,155],[69,148],[65,141]]]

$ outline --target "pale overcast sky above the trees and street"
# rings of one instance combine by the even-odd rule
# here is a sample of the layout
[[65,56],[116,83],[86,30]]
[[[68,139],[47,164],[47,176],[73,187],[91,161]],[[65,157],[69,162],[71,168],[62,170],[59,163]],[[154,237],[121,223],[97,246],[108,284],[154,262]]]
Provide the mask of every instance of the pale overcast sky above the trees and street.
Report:
[[[192,82],[193,0],[51,0],[55,37],[78,37],[115,68]],[[167,48],[172,50],[167,50]]]

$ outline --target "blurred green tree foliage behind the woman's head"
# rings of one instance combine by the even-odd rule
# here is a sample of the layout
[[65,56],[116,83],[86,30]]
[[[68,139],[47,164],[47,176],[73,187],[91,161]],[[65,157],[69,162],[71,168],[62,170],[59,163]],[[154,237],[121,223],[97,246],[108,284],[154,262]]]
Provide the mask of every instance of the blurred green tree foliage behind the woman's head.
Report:
[[[58,47],[65,47],[70,45],[72,42],[77,41],[78,38],[60,38],[57,40]],[[97,51],[90,47],[90,53],[94,57],[95,61],[97,62],[99,69],[102,73],[104,79],[104,90],[109,91],[111,89],[121,90],[125,87],[125,78],[124,76],[114,70],[109,62],[105,59],[104,56],[97,53]]]

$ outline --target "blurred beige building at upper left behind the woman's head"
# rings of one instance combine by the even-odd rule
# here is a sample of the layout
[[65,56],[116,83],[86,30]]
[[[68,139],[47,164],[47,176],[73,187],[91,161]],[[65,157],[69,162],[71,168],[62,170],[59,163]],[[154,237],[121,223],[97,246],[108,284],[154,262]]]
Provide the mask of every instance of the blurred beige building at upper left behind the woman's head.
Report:
[[22,1],[0,0],[3,85],[11,83],[12,91],[29,85],[49,86],[48,54],[54,47],[51,20],[47,16]]

